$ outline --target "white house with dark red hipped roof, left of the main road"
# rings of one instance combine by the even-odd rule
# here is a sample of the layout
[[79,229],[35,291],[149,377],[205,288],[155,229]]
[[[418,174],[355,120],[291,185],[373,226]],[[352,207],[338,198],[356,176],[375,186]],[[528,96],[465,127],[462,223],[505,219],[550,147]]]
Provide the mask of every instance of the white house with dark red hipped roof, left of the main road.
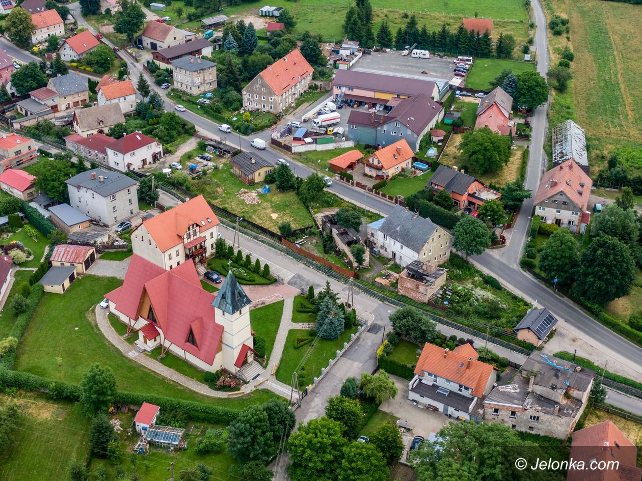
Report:
[[[123,115],[123,114],[121,114]],[[140,132],[124,135],[105,147],[107,164],[121,172],[137,171],[162,158],[162,145]]]

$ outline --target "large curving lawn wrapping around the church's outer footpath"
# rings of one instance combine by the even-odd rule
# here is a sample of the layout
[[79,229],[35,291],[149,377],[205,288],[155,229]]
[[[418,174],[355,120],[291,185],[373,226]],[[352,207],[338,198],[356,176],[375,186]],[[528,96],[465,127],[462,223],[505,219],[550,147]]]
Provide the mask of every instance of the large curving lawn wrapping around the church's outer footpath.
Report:
[[[53,380],[78,383],[89,366],[109,366],[123,391],[154,392],[231,408],[263,403],[275,395],[261,390],[243,398],[210,398],[190,391],[128,359],[105,340],[96,325],[94,306],[121,280],[85,275],[64,294],[46,292],[18,348],[15,369]],[[60,366],[58,366],[58,357]]]

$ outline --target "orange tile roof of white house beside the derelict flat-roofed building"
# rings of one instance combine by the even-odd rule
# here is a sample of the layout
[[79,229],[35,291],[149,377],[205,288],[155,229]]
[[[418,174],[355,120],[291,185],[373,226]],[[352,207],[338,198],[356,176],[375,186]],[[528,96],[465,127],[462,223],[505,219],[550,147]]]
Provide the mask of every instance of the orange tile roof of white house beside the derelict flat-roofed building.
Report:
[[444,348],[426,342],[415,367],[415,374],[423,375],[424,371],[435,374],[458,384],[473,389],[473,396],[481,398],[488,385],[490,376],[494,376],[493,367],[461,352],[446,351]]

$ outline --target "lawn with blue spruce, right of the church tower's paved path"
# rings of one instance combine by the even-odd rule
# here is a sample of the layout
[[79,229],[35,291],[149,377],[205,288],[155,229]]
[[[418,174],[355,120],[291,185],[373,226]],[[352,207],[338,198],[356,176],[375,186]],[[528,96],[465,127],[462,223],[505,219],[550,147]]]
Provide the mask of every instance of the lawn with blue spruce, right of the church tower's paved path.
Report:
[[[314,346],[308,360],[300,368],[299,371],[299,386],[311,384],[316,376],[321,375],[321,368],[326,367],[330,359],[336,357],[336,351],[343,348],[343,343],[350,341],[350,335],[356,332],[356,326],[352,329],[343,331],[339,339],[336,341],[326,341],[319,339],[318,343]],[[291,329],[288,332],[288,338],[285,341],[283,348],[283,355],[279,361],[279,369],[277,369],[277,380],[290,384],[292,380],[292,373],[299,366],[300,361],[307,355],[312,343],[302,346],[300,349],[295,349],[294,344],[297,339],[306,339],[309,337],[308,329]]]

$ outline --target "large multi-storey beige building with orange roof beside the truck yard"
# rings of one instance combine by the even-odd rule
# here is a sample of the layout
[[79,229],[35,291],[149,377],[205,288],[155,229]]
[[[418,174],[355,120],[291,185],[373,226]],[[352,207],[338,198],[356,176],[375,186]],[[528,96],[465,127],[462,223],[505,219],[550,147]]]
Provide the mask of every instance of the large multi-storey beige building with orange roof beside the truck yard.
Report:
[[313,71],[299,49],[294,49],[250,80],[243,88],[243,105],[279,114],[309,89]]

